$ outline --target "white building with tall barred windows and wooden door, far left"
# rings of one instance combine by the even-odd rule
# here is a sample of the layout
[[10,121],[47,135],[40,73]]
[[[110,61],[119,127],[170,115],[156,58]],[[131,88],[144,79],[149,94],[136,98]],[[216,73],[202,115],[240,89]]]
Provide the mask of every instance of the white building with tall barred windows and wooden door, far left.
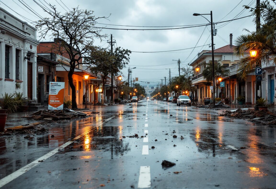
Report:
[[36,29],[0,8],[0,95],[23,92],[37,100]]

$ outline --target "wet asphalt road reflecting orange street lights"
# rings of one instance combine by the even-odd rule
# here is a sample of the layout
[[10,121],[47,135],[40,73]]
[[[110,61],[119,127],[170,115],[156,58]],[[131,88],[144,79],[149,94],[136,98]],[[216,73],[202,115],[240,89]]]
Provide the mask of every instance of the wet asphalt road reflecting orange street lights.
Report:
[[0,186],[276,188],[276,128],[218,112],[144,100],[49,124],[31,139],[0,137]]

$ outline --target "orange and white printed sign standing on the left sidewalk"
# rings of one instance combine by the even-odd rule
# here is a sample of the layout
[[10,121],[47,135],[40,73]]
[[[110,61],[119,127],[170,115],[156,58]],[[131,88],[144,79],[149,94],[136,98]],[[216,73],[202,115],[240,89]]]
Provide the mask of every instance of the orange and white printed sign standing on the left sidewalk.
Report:
[[63,110],[64,82],[50,82],[48,110]]

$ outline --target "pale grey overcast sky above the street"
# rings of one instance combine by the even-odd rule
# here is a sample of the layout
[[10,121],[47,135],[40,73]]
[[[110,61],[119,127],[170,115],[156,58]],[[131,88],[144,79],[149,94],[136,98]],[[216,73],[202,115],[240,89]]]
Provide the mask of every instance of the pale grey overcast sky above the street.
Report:
[[[0,6],[19,19],[30,23],[30,21],[23,19],[17,13],[30,20],[38,20],[33,13],[30,14],[30,12],[26,11],[26,7],[21,4],[20,0],[1,1]],[[36,1],[45,4],[44,0]],[[34,1],[24,0],[24,2],[36,10],[41,16],[48,16]],[[81,9],[94,10],[94,15],[96,17],[109,16],[111,14],[109,20],[99,20],[99,23],[154,26],[144,29],[157,29],[159,28],[157,26],[206,24],[208,23],[206,19],[210,20],[210,15],[204,15],[206,17],[206,19],[204,19],[201,16],[193,16],[193,13],[210,14],[210,11],[213,11],[213,22],[241,18],[250,15],[249,11],[244,9],[243,5],[251,5],[252,7],[256,4],[256,0],[46,0],[46,2],[55,4],[60,12],[65,12],[67,9],[63,5],[64,3],[69,9],[79,6]],[[22,7],[25,10],[23,10]],[[233,33],[234,43],[235,38],[241,34],[246,34],[243,28],[249,29],[250,31],[255,30],[255,25],[252,20],[253,17],[246,17],[239,20],[233,20],[232,22],[216,24],[215,28],[217,29],[217,35],[214,36],[215,49],[229,44],[230,33]],[[96,26],[141,29],[141,27],[102,24],[97,24]],[[162,53],[131,53],[128,67],[136,67],[136,69],[132,69],[132,78],[138,77],[139,83],[142,85],[156,86],[156,82],[161,83],[161,79],[163,79],[164,84],[164,77],[166,77],[166,81],[169,83],[169,70],[166,69],[171,69],[171,77],[178,75],[177,61],[173,60],[180,59],[181,67],[185,67],[189,62],[195,60],[200,51],[211,50],[208,46],[208,44],[211,43],[210,30],[211,27],[208,25],[207,27],[201,26],[150,31],[103,29],[102,32],[108,35],[113,34],[113,39],[116,40],[115,47],[120,46],[131,51],[152,52],[186,49]],[[108,47],[109,44],[107,40],[102,41],[102,43],[96,42],[95,45]],[[194,48],[195,46],[203,46],[206,44],[207,46]],[[122,70],[124,80],[127,80],[128,67]],[[145,84],[145,82],[150,82],[150,84]]]

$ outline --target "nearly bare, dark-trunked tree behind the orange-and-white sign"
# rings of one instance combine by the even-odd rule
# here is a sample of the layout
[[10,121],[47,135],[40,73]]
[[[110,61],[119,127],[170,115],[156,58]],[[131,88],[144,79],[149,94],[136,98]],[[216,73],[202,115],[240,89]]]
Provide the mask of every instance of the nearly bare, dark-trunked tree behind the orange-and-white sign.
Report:
[[70,70],[68,71],[68,81],[72,89],[72,109],[77,108],[76,88],[73,83],[72,75],[76,66],[83,64],[82,59],[89,55],[89,47],[92,46],[94,38],[107,37],[101,34],[101,28],[94,25],[99,19],[107,19],[107,17],[95,17],[92,10],[82,10],[78,7],[71,11],[61,14],[49,4],[50,10],[44,9],[50,17],[36,21],[36,28],[41,35],[40,38],[46,38],[50,35],[57,38],[57,45],[61,48],[60,54],[66,54],[69,57]]

